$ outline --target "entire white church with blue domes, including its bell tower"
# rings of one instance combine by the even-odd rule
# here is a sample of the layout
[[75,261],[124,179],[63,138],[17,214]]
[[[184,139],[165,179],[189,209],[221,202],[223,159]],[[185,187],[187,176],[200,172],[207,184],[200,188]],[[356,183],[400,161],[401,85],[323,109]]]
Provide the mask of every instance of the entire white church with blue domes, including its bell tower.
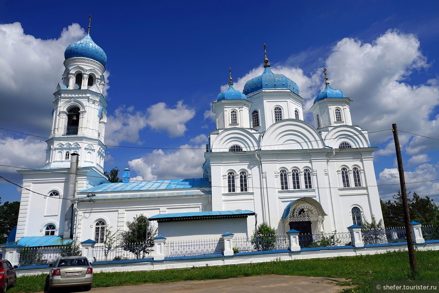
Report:
[[[212,103],[216,129],[206,146],[203,178],[122,183],[104,175],[106,54],[87,34],[65,50],[62,82],[53,94],[46,163],[23,175],[15,241],[50,246],[123,231],[139,214],[168,239],[251,236],[266,222],[279,233],[347,231],[382,218],[368,133],[351,120],[352,100],[327,82],[304,121],[298,85],[273,73],[243,92]],[[12,240],[14,241],[14,239]]]

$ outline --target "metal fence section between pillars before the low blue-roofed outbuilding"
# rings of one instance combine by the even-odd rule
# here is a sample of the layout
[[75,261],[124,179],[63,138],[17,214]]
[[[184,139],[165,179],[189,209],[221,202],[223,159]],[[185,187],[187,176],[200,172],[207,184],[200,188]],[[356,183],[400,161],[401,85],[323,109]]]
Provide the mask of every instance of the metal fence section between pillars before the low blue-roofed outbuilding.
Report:
[[223,253],[223,248],[223,239],[169,241],[164,244],[164,255],[172,257],[215,254]]

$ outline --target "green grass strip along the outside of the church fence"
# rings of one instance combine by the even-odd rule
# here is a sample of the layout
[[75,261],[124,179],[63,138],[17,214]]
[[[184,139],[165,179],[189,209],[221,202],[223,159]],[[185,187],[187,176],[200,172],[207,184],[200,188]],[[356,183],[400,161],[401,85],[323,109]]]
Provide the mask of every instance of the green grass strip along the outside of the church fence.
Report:
[[[417,251],[417,280],[437,280],[439,276],[439,251]],[[93,287],[135,285],[146,282],[225,279],[253,275],[301,275],[315,277],[345,278],[343,285],[355,286],[355,293],[371,292],[373,280],[407,280],[410,265],[408,253],[397,251],[379,255],[307,259],[293,261],[272,261],[265,263],[193,267],[162,271],[95,273]],[[45,275],[22,276],[13,292],[42,291]],[[352,289],[344,292],[352,293]]]

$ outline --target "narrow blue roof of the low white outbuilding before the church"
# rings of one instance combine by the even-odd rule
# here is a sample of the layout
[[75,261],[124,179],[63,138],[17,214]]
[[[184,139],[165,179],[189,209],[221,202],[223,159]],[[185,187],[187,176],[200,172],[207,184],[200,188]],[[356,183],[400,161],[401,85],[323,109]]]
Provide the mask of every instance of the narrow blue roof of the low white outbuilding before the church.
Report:
[[236,211],[204,211],[204,212],[187,212],[187,213],[171,213],[158,214],[150,217],[152,221],[188,221],[188,220],[208,220],[215,218],[242,218],[254,215],[255,212],[248,210]]

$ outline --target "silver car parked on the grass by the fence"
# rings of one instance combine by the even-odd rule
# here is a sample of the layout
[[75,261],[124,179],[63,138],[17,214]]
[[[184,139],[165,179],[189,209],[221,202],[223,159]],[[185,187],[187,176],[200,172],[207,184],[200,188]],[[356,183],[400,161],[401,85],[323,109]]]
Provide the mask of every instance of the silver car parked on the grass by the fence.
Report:
[[44,291],[70,286],[81,286],[85,291],[91,289],[93,269],[86,257],[64,256],[49,266],[52,268],[46,278]]

